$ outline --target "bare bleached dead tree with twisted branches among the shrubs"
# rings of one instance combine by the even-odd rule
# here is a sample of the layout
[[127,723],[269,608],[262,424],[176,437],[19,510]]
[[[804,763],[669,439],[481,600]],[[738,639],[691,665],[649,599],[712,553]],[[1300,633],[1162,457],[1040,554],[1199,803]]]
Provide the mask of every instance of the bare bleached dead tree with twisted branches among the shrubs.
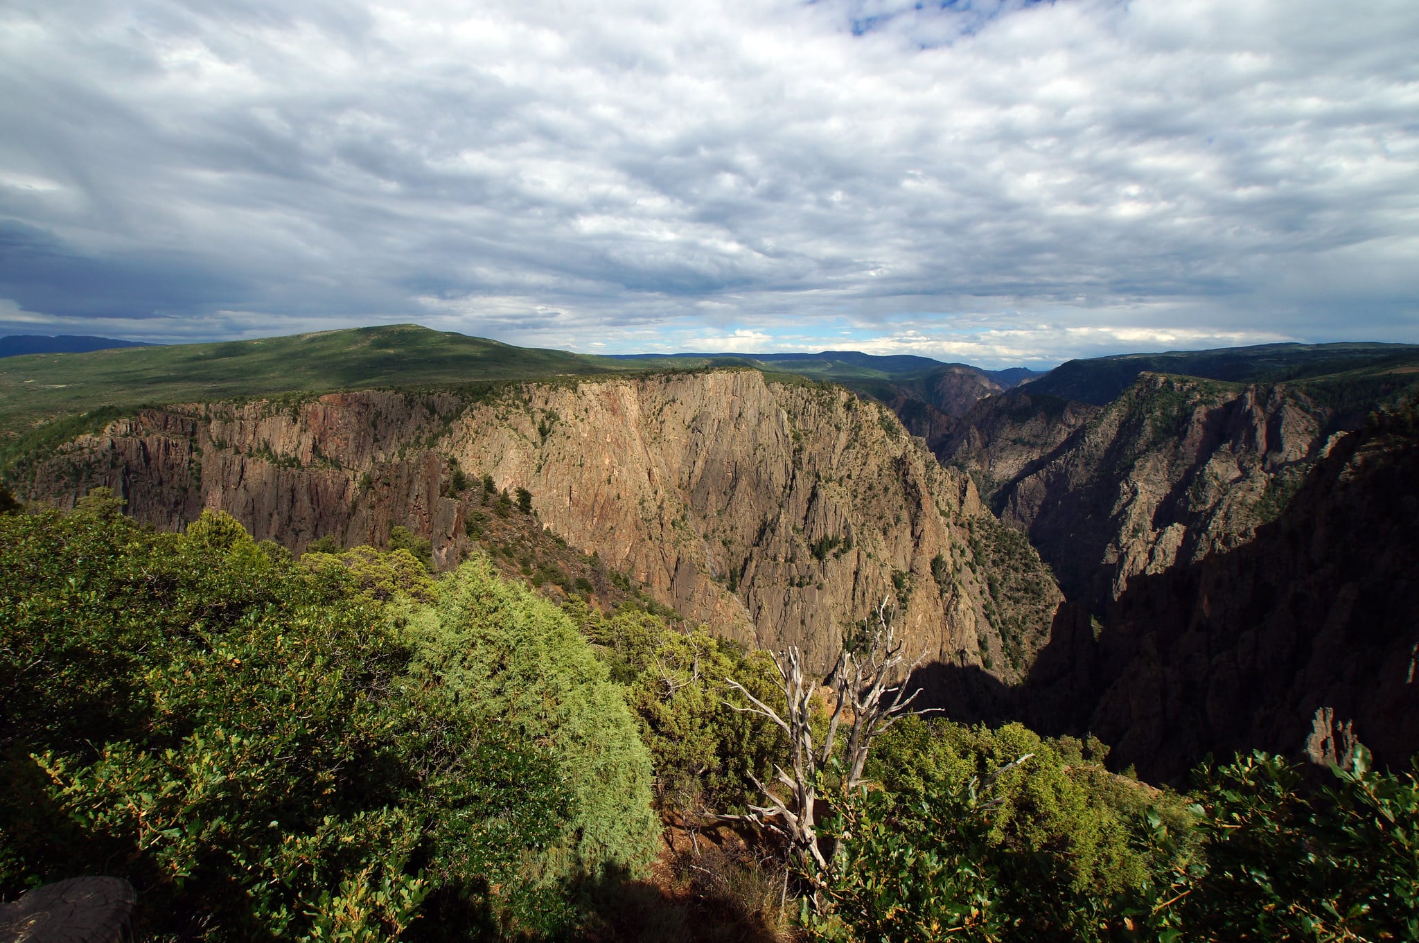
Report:
[[822,685],[834,702],[822,743],[815,744],[812,725],[813,696],[819,683],[805,674],[797,647],[773,655],[779,671],[779,691],[783,692],[782,713],[755,698],[739,682],[725,679],[749,702],[748,706],[729,703],[729,708],[768,718],[789,737],[792,773],[775,766],[775,779],[788,794],[780,797],[751,776],[768,805],[751,805],[746,818],[788,838],[793,852],[813,874],[826,871],[832,858],[832,852],[824,855],[819,847],[813,815],[820,773],[833,760],[843,722],[849,725],[843,750],[843,787],[853,788],[863,780],[873,740],[902,716],[927,713],[910,710],[911,702],[921,693],[920,688],[911,695],[905,693],[907,679],[927,658],[925,649],[905,671],[900,671],[907,659],[901,654],[902,644],[897,641],[887,600],[881,601],[874,615],[876,618],[864,620],[863,631],[856,640],[844,640],[843,649]]

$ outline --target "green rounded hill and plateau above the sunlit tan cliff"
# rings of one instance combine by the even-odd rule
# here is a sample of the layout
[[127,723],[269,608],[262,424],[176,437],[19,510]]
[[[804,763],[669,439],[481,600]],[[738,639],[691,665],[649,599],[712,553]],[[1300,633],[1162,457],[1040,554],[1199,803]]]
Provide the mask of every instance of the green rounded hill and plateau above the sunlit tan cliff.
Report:
[[890,380],[921,374],[924,366],[934,363],[925,357],[874,357],[853,352],[766,355],[762,359],[717,355],[597,357],[515,347],[419,325],[14,356],[0,362],[0,468],[18,454],[158,403],[707,367],[758,369],[788,381],[807,377],[841,383],[867,396],[890,398],[894,394]]

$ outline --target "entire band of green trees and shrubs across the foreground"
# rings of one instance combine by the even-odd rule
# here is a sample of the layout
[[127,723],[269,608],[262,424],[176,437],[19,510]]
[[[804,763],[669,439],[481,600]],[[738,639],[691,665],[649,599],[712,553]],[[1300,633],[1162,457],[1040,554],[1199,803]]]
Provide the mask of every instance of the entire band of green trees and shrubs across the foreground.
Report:
[[1176,793],[904,718],[864,786],[822,769],[805,866],[744,815],[788,761],[734,709],[782,696],[768,654],[477,554],[322,550],[102,489],[0,515],[0,893],[123,876],[173,940],[1419,936],[1419,783],[1364,749]]

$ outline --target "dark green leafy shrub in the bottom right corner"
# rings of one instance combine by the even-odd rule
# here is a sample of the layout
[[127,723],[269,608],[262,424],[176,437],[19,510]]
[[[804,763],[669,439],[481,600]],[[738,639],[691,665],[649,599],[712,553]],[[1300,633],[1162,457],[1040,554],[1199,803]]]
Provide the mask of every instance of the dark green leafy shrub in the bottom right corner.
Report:
[[[1205,854],[1152,896],[1141,929],[1159,939],[1419,939],[1419,767],[1369,769],[1359,747],[1310,793],[1266,753],[1203,770]],[[1181,939],[1181,937],[1176,937]]]

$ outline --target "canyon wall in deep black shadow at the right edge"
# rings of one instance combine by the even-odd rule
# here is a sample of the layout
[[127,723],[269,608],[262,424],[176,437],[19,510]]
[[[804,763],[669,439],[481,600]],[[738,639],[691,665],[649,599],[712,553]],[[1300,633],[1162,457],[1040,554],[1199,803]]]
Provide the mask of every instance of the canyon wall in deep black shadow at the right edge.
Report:
[[[1296,461],[1286,404],[1244,397],[1263,455]],[[1254,410],[1254,411],[1253,411]],[[1304,423],[1303,423],[1303,428]],[[1264,458],[1263,458],[1264,462]],[[1264,464],[1263,464],[1264,469]],[[1104,624],[1061,611],[1025,691],[1044,729],[1091,730],[1111,761],[1181,779],[1208,752],[1402,764],[1419,750],[1419,417],[1335,437],[1250,542],[1135,577]]]

